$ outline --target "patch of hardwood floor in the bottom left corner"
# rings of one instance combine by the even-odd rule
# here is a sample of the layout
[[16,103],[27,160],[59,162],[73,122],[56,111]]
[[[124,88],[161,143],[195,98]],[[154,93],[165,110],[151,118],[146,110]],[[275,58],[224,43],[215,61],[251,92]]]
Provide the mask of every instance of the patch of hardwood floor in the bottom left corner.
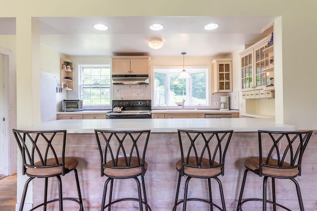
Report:
[[0,179],[0,211],[15,211],[16,173]]

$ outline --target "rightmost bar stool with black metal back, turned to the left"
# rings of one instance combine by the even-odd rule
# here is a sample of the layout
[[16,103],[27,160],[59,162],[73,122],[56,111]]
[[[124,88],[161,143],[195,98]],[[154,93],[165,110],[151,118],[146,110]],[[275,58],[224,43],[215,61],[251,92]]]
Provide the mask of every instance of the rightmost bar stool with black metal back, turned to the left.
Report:
[[[311,138],[312,130],[298,131],[264,131],[259,130],[259,157],[247,158],[246,167],[241,185],[237,211],[242,210],[242,205],[250,201],[262,201],[263,211],[266,211],[267,203],[276,210],[276,207],[291,211],[285,205],[276,203],[275,179],[290,179],[294,182],[299,201],[299,208],[304,211],[300,186],[295,177],[301,175],[302,157]],[[263,177],[263,198],[248,198],[242,200],[248,171]],[[267,179],[272,180],[272,198],[266,197]],[[250,207],[250,206],[248,206]]]

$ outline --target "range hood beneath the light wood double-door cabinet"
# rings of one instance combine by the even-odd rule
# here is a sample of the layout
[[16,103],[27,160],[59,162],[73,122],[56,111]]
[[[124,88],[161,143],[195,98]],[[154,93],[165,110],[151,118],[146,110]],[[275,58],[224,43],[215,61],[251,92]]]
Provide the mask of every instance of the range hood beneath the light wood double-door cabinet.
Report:
[[112,75],[112,84],[149,84],[149,75]]

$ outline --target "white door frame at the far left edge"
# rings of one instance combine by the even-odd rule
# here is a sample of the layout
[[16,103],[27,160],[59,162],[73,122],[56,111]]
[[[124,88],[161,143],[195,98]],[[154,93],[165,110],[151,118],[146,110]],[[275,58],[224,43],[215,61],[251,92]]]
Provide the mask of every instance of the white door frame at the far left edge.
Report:
[[[11,133],[17,125],[16,115],[16,71],[15,56],[11,50],[0,47],[3,56],[3,175],[11,175],[17,171],[17,145]],[[2,120],[4,118],[4,121]]]

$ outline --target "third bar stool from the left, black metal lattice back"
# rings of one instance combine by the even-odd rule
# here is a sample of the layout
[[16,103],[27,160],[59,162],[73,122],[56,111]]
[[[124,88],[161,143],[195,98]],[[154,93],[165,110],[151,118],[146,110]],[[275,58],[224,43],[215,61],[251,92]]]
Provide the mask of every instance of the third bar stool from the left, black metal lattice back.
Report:
[[[218,175],[224,175],[224,160],[231,140],[233,130],[223,131],[197,131],[178,129],[181,159],[176,162],[179,173],[173,211],[183,203],[183,211],[186,211],[188,201],[200,201],[209,204],[210,210],[217,208],[225,211],[222,184]],[[182,176],[187,176],[185,182],[184,199],[178,201],[178,194]],[[191,178],[208,180],[209,200],[201,198],[187,198],[188,184]],[[219,185],[222,209],[212,202],[211,178]]]

